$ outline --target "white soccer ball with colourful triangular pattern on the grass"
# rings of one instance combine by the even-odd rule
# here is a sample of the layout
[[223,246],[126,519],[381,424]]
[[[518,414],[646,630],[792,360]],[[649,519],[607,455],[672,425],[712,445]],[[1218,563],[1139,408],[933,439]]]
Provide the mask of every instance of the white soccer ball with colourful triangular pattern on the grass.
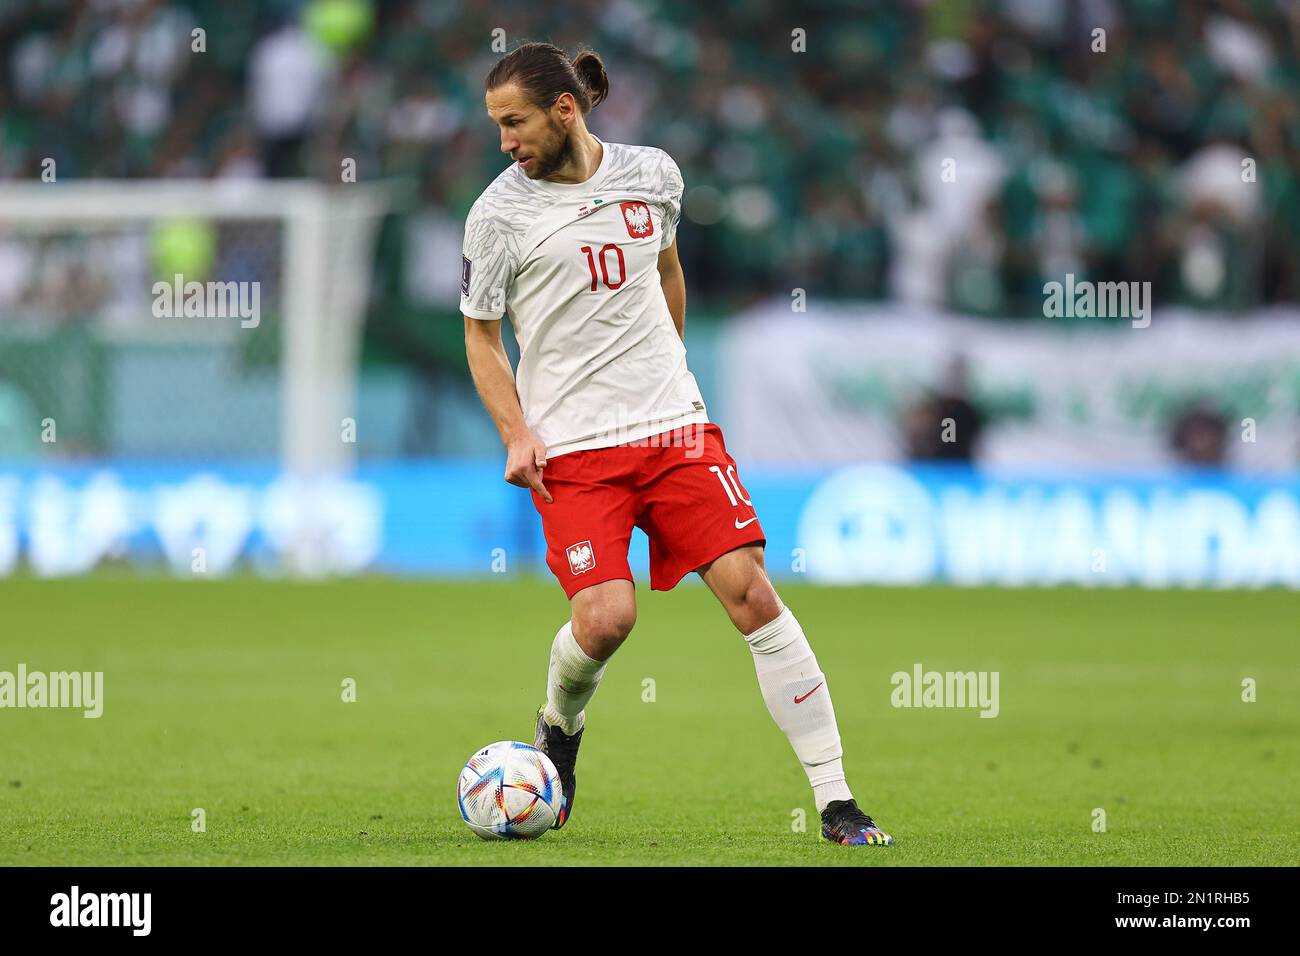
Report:
[[560,813],[560,775],[532,744],[488,744],[460,771],[456,804],[465,826],[485,840],[532,840]]

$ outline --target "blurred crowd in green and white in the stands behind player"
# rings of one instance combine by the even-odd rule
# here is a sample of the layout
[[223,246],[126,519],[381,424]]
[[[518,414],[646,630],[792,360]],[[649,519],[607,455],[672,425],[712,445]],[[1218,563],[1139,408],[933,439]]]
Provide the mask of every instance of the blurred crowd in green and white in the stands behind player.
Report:
[[589,126],[681,166],[696,308],[798,287],[1028,317],[1066,273],[1300,299],[1288,0],[5,0],[0,178],[410,177],[374,332],[437,352],[507,161],[494,31],[603,56]]

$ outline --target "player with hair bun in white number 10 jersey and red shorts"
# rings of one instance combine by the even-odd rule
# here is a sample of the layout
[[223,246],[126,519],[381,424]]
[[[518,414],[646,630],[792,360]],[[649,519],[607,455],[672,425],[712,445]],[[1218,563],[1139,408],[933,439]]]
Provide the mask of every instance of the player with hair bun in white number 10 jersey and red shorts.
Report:
[[[488,116],[514,163],[465,221],[460,311],[474,386],[530,488],[546,562],[569,598],[537,747],[573,812],[588,701],[636,622],[633,525],[650,587],[697,572],[745,636],[768,711],[807,773],[822,836],[888,845],[853,799],[826,675],[763,563],[766,538],[686,368],[677,260],[682,179],[663,150],[606,143],[585,116],[608,92],[594,51],[525,43],[493,66]],[[520,356],[500,338],[510,313]]]

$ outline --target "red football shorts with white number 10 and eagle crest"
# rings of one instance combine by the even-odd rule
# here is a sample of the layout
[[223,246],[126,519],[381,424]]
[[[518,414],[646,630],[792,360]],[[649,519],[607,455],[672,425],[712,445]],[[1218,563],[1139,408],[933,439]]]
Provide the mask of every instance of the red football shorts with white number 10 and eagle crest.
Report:
[[742,545],[766,544],[736,459],[718,425],[686,425],[628,445],[551,459],[533,492],[546,563],[571,598],[593,584],[633,580],[632,528],[650,538],[650,587],[682,578]]

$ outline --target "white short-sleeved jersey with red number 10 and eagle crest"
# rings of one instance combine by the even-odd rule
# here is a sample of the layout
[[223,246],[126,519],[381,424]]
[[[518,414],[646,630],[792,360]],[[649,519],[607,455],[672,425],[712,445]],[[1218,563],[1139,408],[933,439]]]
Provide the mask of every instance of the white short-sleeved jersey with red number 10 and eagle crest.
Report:
[[580,183],[512,163],[465,220],[460,311],[510,313],[524,420],[551,458],[708,421],[659,284],[681,172],[655,147],[602,146]]

